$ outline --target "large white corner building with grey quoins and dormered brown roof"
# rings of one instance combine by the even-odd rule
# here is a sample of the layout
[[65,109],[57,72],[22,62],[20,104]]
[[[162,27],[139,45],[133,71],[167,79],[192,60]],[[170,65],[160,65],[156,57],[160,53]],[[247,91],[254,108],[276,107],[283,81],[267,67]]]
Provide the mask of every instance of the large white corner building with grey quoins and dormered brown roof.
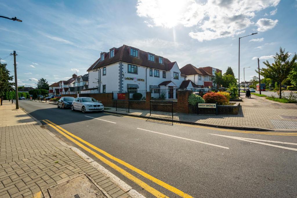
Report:
[[173,89],[186,80],[176,62],[127,45],[102,52],[87,71],[88,88],[81,93]]

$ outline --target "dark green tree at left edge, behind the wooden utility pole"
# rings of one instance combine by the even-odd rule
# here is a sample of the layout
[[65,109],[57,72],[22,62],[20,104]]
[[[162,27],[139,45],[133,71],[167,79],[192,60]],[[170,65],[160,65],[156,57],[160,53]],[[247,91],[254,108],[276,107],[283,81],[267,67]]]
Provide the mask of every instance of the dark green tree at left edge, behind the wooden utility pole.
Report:
[[3,97],[6,92],[13,91],[12,87],[15,83],[11,83],[13,76],[9,75],[9,72],[6,69],[7,64],[1,64],[0,62],[0,96]]

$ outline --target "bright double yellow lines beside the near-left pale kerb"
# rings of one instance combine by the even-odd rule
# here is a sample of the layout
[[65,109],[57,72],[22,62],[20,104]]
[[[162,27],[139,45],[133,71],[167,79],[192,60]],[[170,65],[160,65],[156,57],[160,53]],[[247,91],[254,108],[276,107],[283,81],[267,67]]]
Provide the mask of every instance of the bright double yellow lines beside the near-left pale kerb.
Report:
[[[90,144],[89,142],[86,142],[85,140],[81,139],[80,137],[75,136],[74,134],[68,132],[67,130],[63,129],[62,127],[60,127],[59,125],[49,121],[49,120],[42,120],[45,123],[47,123],[49,126],[51,126],[53,129],[55,129],[57,132],[59,132],[60,134],[64,135],[67,139],[69,139],[70,141],[74,142],[76,145],[80,146],[81,148],[83,148],[85,151],[88,151],[89,153],[91,153],[92,155],[94,155],[95,157],[97,157],[99,160],[101,160],[102,162],[104,162],[105,164],[108,164],[110,167],[112,167],[113,169],[117,170],[118,172],[120,172],[122,175],[124,175],[125,177],[127,177],[128,179],[132,180],[133,182],[137,183],[139,186],[141,186],[143,189],[145,189],[146,191],[148,191],[149,193],[153,194],[155,197],[160,197],[160,198],[165,198],[168,197],[165,194],[162,194],[161,192],[157,191],[156,189],[152,188],[151,186],[149,186],[148,184],[144,183],[143,181],[141,181],[140,179],[136,178],[135,176],[133,176],[132,174],[130,174],[129,172],[125,171],[124,169],[122,169],[121,167],[117,166],[116,164],[114,164],[113,162],[107,160],[106,158],[102,157],[101,155],[99,155],[98,153],[92,151],[90,148],[94,149],[95,151],[98,151],[100,153],[102,153],[103,155],[107,156],[108,158],[118,162],[119,164],[124,165],[125,167],[133,170],[134,172],[137,172],[138,174],[142,175],[143,177],[153,181],[154,183],[157,183],[158,185],[162,186],[165,189],[168,189],[170,191],[172,191],[173,193],[181,196],[181,197],[185,197],[185,198],[192,198],[192,196],[190,196],[189,194],[184,193],[183,191],[170,186],[169,184],[147,174],[146,172],[143,172],[142,170],[139,170],[138,168],[132,166],[131,164],[128,164],[127,162],[122,161],[121,159],[118,159],[112,155],[110,155],[109,153],[97,148],[96,146]],[[67,135],[68,134],[68,135]],[[72,137],[74,137],[75,139],[79,140],[80,142],[84,143],[85,145],[89,146],[90,148],[86,147],[85,145],[83,145],[82,143],[78,142],[77,140],[73,139]]]

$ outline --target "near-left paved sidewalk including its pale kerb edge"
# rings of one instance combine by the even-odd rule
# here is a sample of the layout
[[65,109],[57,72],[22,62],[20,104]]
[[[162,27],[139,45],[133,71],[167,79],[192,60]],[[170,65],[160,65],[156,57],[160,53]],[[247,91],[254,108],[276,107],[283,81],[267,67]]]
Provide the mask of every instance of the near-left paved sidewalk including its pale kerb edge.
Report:
[[93,197],[94,193],[96,197],[143,197],[23,110],[15,110],[15,104],[4,101],[0,117],[1,198]]

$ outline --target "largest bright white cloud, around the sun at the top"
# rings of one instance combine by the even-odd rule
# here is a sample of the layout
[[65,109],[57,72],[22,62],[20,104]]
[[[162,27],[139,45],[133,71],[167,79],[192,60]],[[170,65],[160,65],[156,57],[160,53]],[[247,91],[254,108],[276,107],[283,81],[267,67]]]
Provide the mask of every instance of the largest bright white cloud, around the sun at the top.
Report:
[[[192,29],[198,31],[190,32],[189,36],[202,42],[244,33],[247,27],[255,25],[252,19],[257,12],[275,7],[279,1],[208,0],[200,3],[193,0],[138,0],[136,12],[138,16],[146,18],[144,22],[149,27],[173,28],[179,24],[194,27]],[[256,25],[261,31],[266,31],[273,25],[270,21],[268,21],[272,23],[270,26],[265,21],[258,22]]]

